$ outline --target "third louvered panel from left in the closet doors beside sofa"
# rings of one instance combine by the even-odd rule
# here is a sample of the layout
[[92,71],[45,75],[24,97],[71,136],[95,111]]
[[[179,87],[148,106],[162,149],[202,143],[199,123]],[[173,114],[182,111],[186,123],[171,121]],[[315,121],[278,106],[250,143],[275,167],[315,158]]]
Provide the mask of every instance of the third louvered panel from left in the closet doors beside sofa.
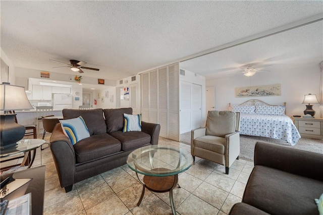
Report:
[[168,137],[168,111],[167,111],[167,67],[158,69],[158,118],[162,137]]

